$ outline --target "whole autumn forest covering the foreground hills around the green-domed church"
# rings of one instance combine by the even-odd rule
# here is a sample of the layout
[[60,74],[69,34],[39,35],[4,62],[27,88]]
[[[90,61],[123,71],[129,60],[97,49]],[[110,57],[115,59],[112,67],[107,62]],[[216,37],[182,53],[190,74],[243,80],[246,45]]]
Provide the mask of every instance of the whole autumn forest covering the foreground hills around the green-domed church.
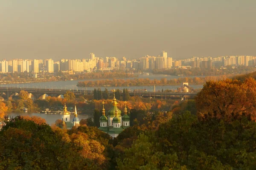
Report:
[[[101,101],[93,100],[95,118]],[[255,79],[207,81],[195,99],[183,102],[148,102],[148,108],[134,108],[134,103],[146,102],[132,97],[128,102],[131,127],[114,139],[91,119],[65,130],[59,122],[49,126],[39,117],[5,117],[0,170],[255,169]],[[163,105],[169,111],[161,111]]]

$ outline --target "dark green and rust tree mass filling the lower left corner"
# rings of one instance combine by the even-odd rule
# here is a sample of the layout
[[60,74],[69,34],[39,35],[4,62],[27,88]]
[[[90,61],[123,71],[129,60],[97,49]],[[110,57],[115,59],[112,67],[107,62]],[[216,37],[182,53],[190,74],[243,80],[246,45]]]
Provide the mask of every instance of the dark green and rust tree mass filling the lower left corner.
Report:
[[0,131],[0,169],[92,168],[90,159],[80,155],[82,148],[64,141],[64,134],[20,116],[11,119]]

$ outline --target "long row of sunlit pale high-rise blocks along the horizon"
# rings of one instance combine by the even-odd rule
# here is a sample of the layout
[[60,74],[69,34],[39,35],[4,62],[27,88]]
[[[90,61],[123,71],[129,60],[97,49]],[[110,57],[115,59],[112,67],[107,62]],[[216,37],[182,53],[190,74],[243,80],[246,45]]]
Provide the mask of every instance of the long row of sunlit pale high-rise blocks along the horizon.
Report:
[[161,51],[157,57],[146,55],[138,59],[129,60],[122,57],[95,57],[90,53],[89,59],[3,59],[0,61],[0,73],[7,72],[30,72],[30,73],[57,73],[61,71],[66,74],[91,71],[111,70],[168,70],[172,68],[204,68],[225,66],[256,66],[256,56],[220,56],[220,57],[191,57],[175,60],[168,57],[167,51]]

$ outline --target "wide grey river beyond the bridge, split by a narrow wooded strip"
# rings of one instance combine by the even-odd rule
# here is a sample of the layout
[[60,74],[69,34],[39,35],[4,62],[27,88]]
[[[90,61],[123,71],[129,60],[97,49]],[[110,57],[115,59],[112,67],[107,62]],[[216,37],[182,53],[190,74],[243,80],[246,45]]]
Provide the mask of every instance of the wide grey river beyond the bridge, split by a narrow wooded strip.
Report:
[[[195,76],[191,76],[191,77],[195,77]],[[138,77],[129,77],[129,78],[119,78],[119,79],[134,79],[134,78],[148,78],[148,79],[162,79],[162,78],[166,78],[166,79],[178,79],[180,78],[180,76],[171,76],[171,75],[165,75],[165,74],[149,74],[149,75],[145,75],[145,74],[139,74]],[[84,80],[100,80],[100,79],[84,79]],[[77,87],[77,83],[79,81],[84,81],[84,80],[67,80],[67,81],[58,81],[58,82],[34,82],[34,83],[20,83],[20,84],[8,84],[8,85],[0,85],[0,87],[14,87],[14,88],[38,88],[38,89],[61,89],[61,90],[71,90],[71,91],[79,91],[79,90],[93,90],[94,88],[98,88],[98,87]],[[190,85],[192,88],[202,88],[203,85]],[[172,89],[172,90],[176,90],[177,88],[179,88],[180,85],[156,85],[155,86],[155,90],[162,90],[162,89]],[[126,86],[122,86],[122,87],[99,87],[101,88],[101,90],[105,90],[105,88],[108,88],[108,90],[112,90],[113,88],[117,89],[119,88],[120,90],[122,90],[123,88],[128,88],[128,90],[133,91],[134,89],[147,89],[147,91],[153,91],[154,90],[154,86],[130,86],[130,87],[126,87]]]

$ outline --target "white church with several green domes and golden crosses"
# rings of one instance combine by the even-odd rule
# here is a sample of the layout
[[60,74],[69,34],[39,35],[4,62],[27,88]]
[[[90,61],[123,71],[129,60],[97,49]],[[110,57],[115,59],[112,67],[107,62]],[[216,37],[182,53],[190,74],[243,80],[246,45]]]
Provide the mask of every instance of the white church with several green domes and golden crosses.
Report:
[[121,116],[121,111],[117,108],[117,102],[115,98],[112,101],[113,107],[108,111],[108,117],[105,116],[104,101],[102,102],[102,116],[99,118],[100,127],[99,130],[102,130],[105,133],[110,134],[113,138],[118,136],[124,129],[130,127],[130,117],[127,115],[126,101],[125,101],[125,115]]

